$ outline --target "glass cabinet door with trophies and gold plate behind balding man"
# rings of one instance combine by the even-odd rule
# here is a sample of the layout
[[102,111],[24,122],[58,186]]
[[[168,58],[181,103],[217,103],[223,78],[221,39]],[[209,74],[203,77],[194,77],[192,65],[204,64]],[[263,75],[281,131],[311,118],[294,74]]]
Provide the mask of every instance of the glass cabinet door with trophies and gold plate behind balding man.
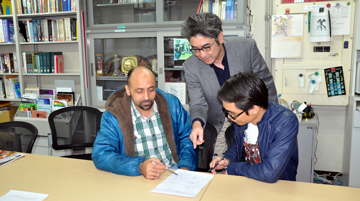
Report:
[[[127,72],[157,63],[156,33],[89,34],[92,106],[102,108],[109,95],[126,85]],[[116,54],[116,55],[115,55]]]

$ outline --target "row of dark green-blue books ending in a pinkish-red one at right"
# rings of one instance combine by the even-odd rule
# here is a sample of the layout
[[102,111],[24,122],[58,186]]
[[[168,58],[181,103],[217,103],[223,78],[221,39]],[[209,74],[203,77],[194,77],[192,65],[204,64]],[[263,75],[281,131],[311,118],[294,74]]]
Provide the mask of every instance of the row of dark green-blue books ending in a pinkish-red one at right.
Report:
[[22,52],[25,73],[62,73],[62,52]]

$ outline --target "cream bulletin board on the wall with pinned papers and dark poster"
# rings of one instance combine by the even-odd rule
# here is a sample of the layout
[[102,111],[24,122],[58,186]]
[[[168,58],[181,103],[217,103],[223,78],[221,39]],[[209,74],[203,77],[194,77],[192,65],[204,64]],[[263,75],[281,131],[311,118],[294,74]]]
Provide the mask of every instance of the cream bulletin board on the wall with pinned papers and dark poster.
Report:
[[[331,6],[336,6],[334,4],[339,4],[340,6],[343,6],[347,3],[350,3],[350,5],[346,5],[349,7],[342,7],[340,9],[348,11],[349,20],[346,26],[349,26],[349,31],[347,32],[349,34],[332,35],[331,41],[310,42],[310,33],[308,32],[308,11],[319,11],[319,8],[324,8],[327,4],[331,4]],[[312,8],[313,10],[311,10]],[[291,16],[295,14],[304,14],[301,57],[273,58],[273,63],[275,64],[274,81],[277,93],[281,93],[281,98],[285,100],[298,100],[299,102],[307,102],[312,105],[348,105],[348,90],[352,61],[351,54],[355,8],[356,6],[354,1],[330,1],[276,5],[276,13],[273,14],[276,16]],[[333,8],[330,7],[330,9]],[[327,12],[326,9],[325,11]],[[338,12],[338,10],[335,11],[333,9],[332,11],[330,11],[330,13],[332,14],[336,12]],[[345,14],[346,16],[346,12],[342,12],[342,14]],[[335,19],[334,21],[336,20],[337,19]],[[342,84],[345,91],[337,95],[328,95],[328,88],[330,86],[330,83],[327,83],[326,81],[325,69],[339,66],[342,67]],[[316,72],[321,74],[321,82],[319,82],[318,90],[314,90],[312,93],[309,93],[308,86],[311,82],[311,79],[308,79],[308,77],[311,77]],[[299,74],[305,76],[304,86],[299,86]]]

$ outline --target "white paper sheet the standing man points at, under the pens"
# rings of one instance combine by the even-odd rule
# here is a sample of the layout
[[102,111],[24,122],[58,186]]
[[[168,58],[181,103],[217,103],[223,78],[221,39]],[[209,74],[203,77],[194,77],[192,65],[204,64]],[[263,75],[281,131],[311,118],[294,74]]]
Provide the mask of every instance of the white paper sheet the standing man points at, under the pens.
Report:
[[194,197],[209,182],[213,174],[193,172],[182,169],[175,171],[179,176],[171,174],[151,192]]

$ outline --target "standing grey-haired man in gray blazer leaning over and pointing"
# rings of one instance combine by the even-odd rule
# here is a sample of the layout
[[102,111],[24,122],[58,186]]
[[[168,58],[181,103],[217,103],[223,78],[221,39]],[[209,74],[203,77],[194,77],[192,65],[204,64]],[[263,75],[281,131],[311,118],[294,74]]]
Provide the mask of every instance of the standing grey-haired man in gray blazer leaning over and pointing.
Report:
[[190,98],[190,140],[194,148],[202,144],[203,128],[208,122],[218,131],[214,153],[226,151],[225,131],[231,121],[222,112],[217,92],[238,72],[254,72],[266,84],[269,100],[277,103],[273,77],[256,42],[244,37],[225,37],[220,18],[212,13],[188,17],[181,25],[181,36],[189,40],[194,55],[183,63]]

